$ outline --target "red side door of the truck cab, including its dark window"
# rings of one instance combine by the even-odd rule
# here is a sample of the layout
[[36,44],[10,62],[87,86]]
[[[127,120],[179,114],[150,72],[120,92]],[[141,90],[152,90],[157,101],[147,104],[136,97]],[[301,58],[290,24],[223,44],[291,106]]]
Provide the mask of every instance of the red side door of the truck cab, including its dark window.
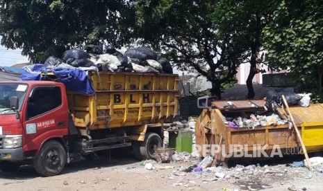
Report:
[[60,87],[34,87],[27,100],[25,116],[24,151],[39,149],[48,138],[67,135],[68,107]]

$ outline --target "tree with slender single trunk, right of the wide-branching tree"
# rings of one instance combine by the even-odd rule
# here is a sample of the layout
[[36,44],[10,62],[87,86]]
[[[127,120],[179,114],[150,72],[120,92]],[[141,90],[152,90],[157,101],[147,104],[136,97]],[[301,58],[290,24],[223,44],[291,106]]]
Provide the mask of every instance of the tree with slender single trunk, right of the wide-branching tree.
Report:
[[263,48],[261,35],[271,17],[272,7],[272,1],[221,0],[213,13],[213,22],[218,26],[219,34],[231,33],[235,44],[245,50],[245,62],[250,63],[246,82],[248,99],[255,96],[252,79],[259,73],[257,64],[264,62],[259,59]]

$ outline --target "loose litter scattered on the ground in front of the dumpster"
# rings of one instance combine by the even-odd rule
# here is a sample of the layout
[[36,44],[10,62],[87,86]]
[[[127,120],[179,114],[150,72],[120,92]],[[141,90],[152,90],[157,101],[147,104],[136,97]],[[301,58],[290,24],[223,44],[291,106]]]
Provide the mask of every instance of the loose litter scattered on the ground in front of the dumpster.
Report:
[[[322,157],[321,157],[322,158]],[[317,158],[313,160],[320,161]],[[321,161],[322,162],[322,161]],[[185,176],[195,176],[194,181],[199,179],[202,183],[220,181],[232,183],[238,190],[263,190],[272,188],[274,185],[288,185],[298,179],[318,179],[320,174],[317,170],[308,171],[305,167],[292,167],[292,165],[235,165],[235,167],[211,167],[213,158],[206,157],[203,161],[188,167],[180,166],[173,170],[168,179],[178,179],[176,185],[186,185]],[[321,163],[322,164],[322,163]],[[183,172],[185,174],[183,174]],[[181,178],[182,177],[182,178]],[[189,178],[187,178],[189,179]],[[193,185],[191,185],[193,186]]]

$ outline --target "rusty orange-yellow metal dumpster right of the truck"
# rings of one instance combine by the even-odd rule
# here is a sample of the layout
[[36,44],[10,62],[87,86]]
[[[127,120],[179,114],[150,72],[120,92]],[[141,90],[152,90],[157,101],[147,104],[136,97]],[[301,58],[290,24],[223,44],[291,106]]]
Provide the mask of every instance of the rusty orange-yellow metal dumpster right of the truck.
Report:
[[[197,149],[201,156],[214,155],[214,147],[221,146],[217,159],[228,165],[230,158],[236,157],[271,157],[285,154],[300,154],[301,145],[297,136],[288,124],[268,125],[255,129],[233,129],[226,121],[228,115],[239,115],[244,112],[264,111],[265,100],[235,100],[234,107],[227,101],[213,101],[204,109],[197,120],[195,135]],[[297,127],[308,152],[323,149],[323,107],[322,104],[311,104],[310,107],[290,107]],[[281,118],[287,119],[285,111],[279,109]],[[222,137],[222,143],[220,138]],[[237,156],[239,146],[242,154]],[[267,154],[267,156],[265,155]]]

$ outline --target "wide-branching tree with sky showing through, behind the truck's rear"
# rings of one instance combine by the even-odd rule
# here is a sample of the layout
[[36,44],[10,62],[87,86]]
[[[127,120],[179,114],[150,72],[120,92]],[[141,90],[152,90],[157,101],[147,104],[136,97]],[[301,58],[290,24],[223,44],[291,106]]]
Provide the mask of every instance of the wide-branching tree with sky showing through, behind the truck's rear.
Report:
[[165,53],[179,68],[193,67],[212,82],[211,94],[221,98],[221,84],[235,78],[245,50],[235,44],[231,33],[217,35],[211,17],[215,1],[133,2],[135,37]]

